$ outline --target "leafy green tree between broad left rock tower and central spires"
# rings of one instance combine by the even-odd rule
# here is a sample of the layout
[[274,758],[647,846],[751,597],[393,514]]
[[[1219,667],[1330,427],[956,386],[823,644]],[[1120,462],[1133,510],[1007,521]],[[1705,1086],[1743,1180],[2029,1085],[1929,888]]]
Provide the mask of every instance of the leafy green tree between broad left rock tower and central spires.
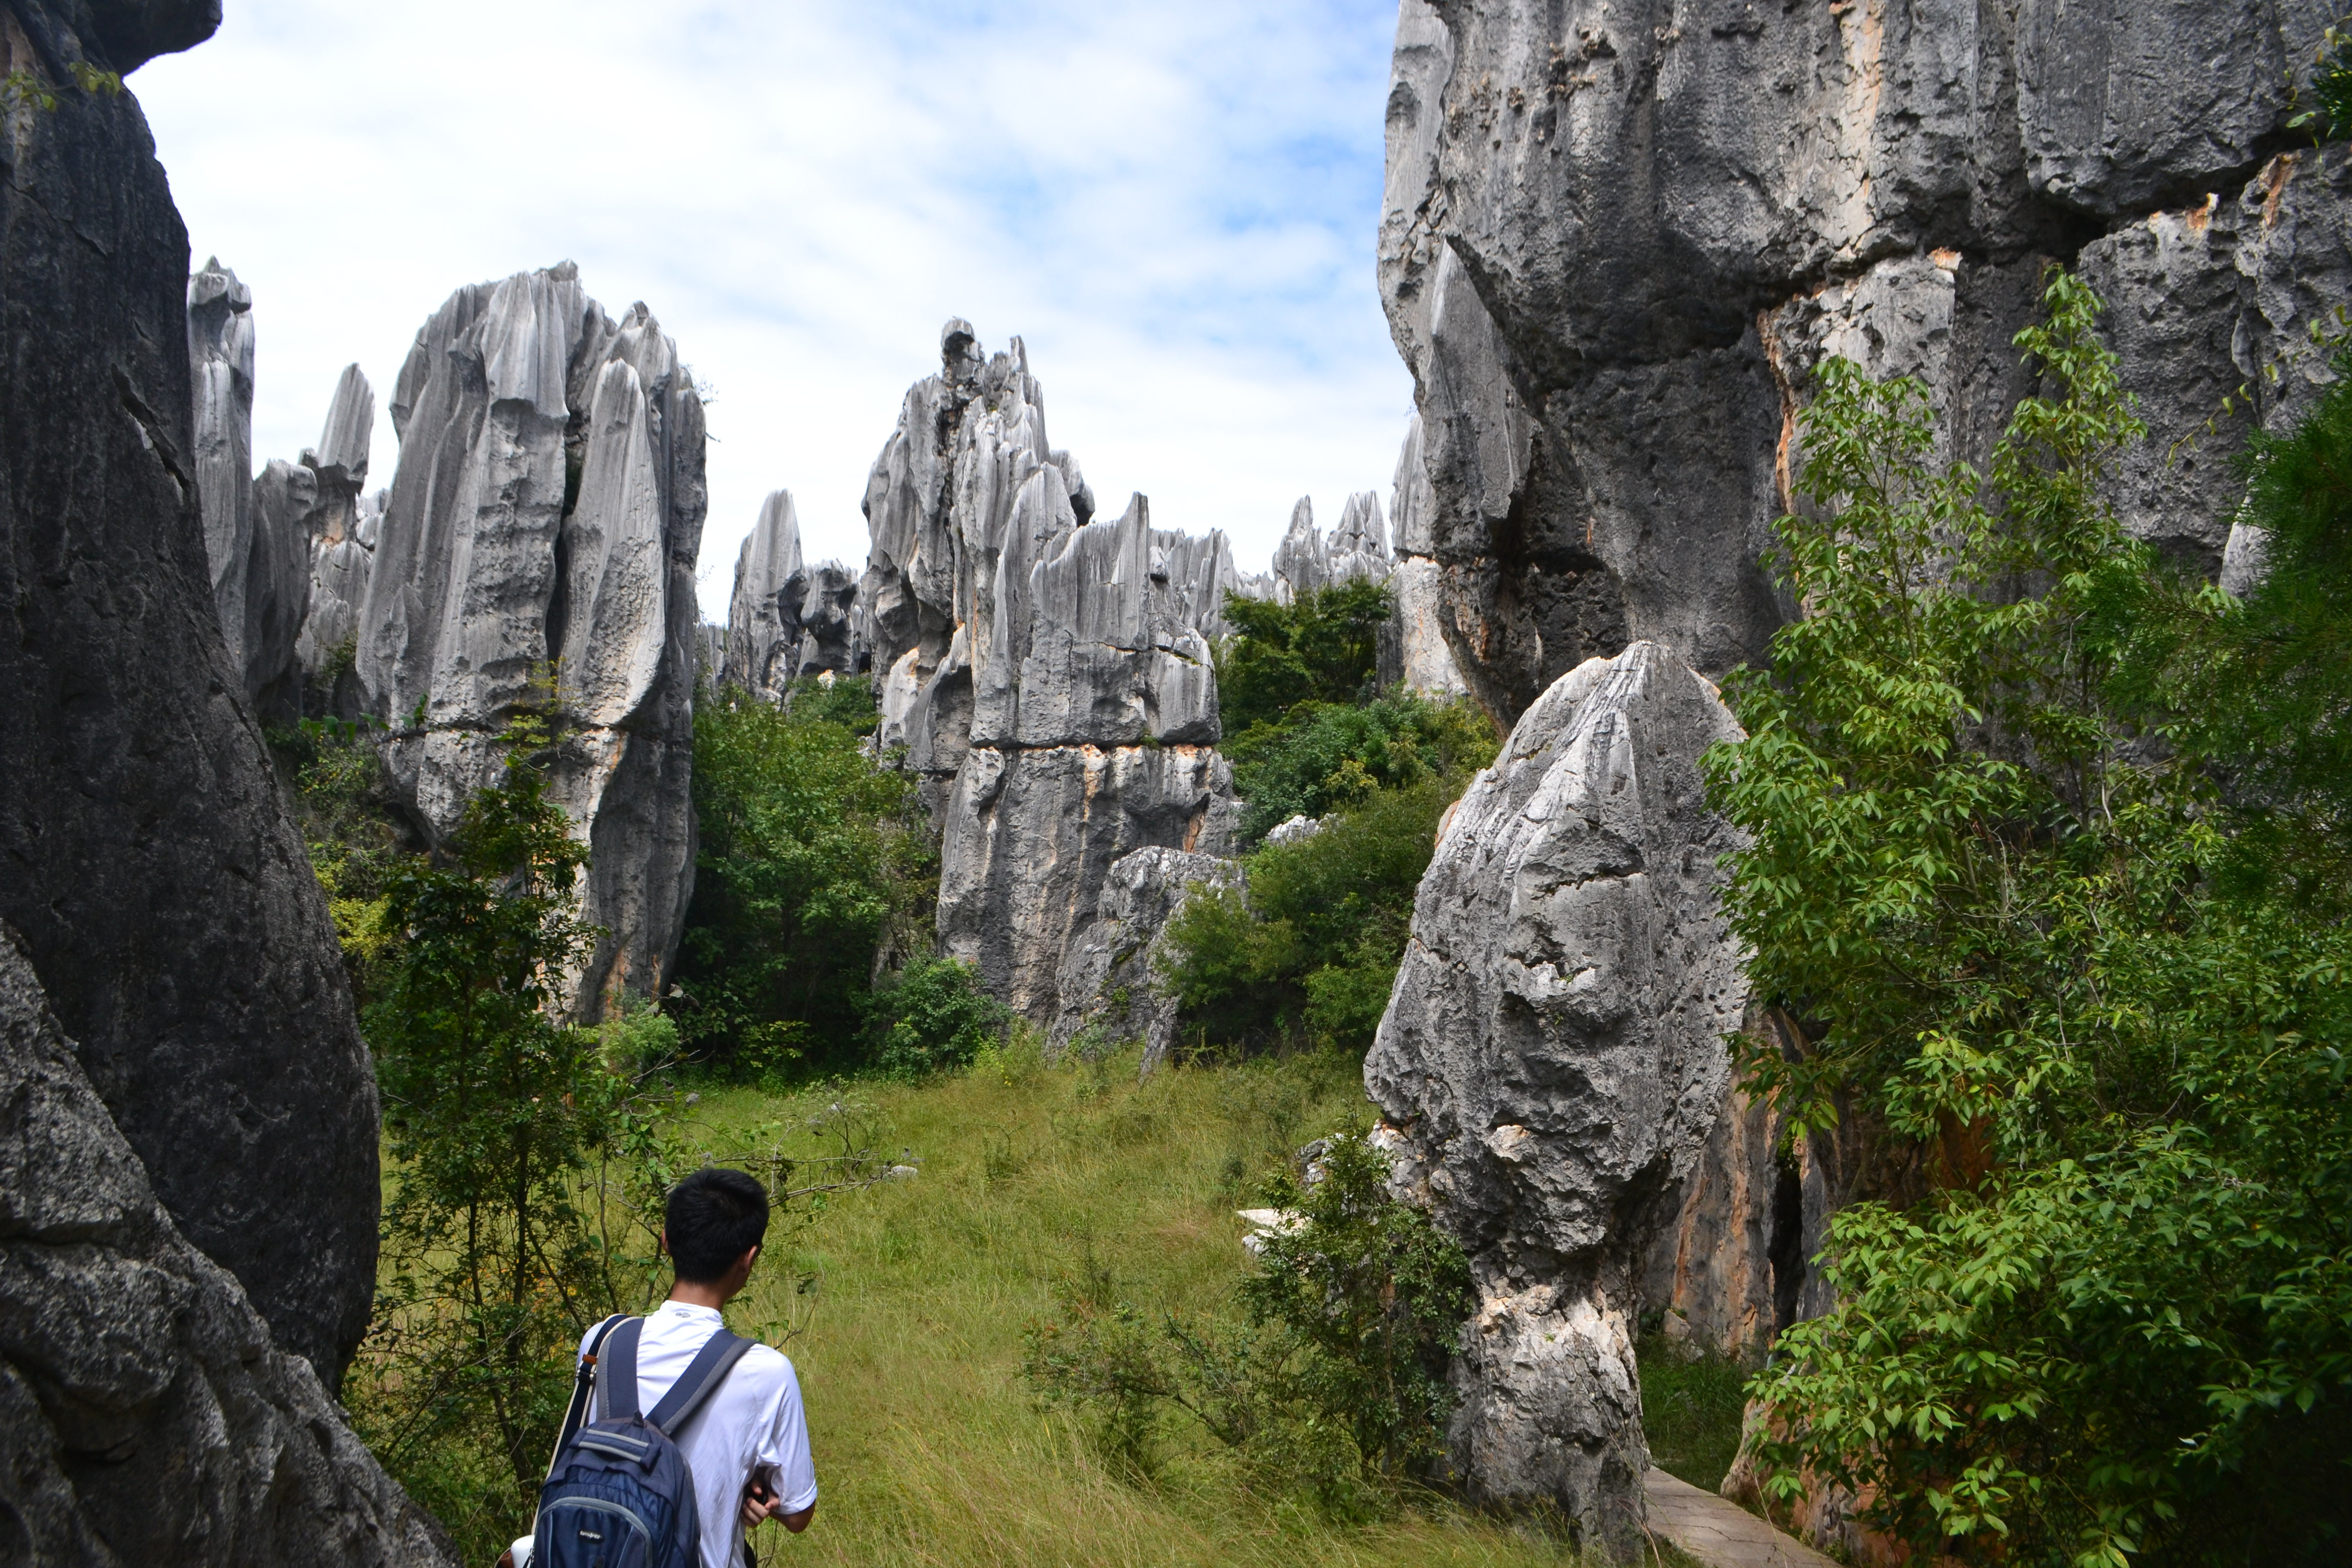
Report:
[[699,693],[677,1018],[689,1048],[739,1074],[851,1065],[877,954],[929,947],[929,839],[868,729],[863,679],[802,682],[788,708]]

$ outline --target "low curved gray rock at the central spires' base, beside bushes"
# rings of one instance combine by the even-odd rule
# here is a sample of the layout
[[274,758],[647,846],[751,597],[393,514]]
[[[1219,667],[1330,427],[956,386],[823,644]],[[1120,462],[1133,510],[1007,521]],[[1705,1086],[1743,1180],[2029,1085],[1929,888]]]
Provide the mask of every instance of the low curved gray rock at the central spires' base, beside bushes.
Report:
[[1061,1013],[1047,1037],[1065,1051],[1087,1030],[1105,1044],[1143,1041],[1143,1072],[1176,1048],[1176,1001],[1155,966],[1160,933],[1197,886],[1237,886],[1242,863],[1148,846],[1110,863],[1094,922],[1075,933],[1054,980]]

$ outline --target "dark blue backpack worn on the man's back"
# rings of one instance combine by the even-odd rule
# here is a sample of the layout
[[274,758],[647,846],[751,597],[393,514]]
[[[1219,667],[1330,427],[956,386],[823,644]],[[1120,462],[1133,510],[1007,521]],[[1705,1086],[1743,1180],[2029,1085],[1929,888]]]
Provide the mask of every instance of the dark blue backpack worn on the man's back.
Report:
[[[701,1514],[677,1436],[727,1380],[750,1340],[720,1328],[652,1413],[637,1410],[644,1319],[595,1331],[572,1385],[555,1465],[539,1488],[532,1568],[699,1568]],[[597,1420],[588,1420],[590,1403]],[[731,1521],[720,1521],[731,1528]]]

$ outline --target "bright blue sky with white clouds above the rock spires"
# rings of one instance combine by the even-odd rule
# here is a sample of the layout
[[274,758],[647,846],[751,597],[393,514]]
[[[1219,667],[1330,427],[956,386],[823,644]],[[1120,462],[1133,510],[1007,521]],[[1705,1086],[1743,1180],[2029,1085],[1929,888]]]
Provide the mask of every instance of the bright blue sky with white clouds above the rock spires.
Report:
[[938,327],[1028,343],[1105,512],[1265,559],[1388,508],[1411,378],[1374,284],[1395,0],[228,0],[129,78],[254,292],[254,461],[383,404],[466,282],[572,259],[713,390],[701,602],[790,489],[866,559],[866,470]]

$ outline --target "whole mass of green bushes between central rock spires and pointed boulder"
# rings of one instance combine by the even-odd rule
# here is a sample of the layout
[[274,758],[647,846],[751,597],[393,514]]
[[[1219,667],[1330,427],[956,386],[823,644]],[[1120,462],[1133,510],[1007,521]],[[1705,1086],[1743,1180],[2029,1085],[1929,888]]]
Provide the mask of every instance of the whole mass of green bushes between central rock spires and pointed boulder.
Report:
[[1338,583],[1294,604],[1225,599],[1225,755],[1242,839],[1312,816],[1322,830],[1244,858],[1244,889],[1197,889],[1162,957],[1185,1034],[1207,1046],[1362,1053],[1404,957],[1437,823],[1494,759],[1470,703],[1376,686],[1388,590]]

